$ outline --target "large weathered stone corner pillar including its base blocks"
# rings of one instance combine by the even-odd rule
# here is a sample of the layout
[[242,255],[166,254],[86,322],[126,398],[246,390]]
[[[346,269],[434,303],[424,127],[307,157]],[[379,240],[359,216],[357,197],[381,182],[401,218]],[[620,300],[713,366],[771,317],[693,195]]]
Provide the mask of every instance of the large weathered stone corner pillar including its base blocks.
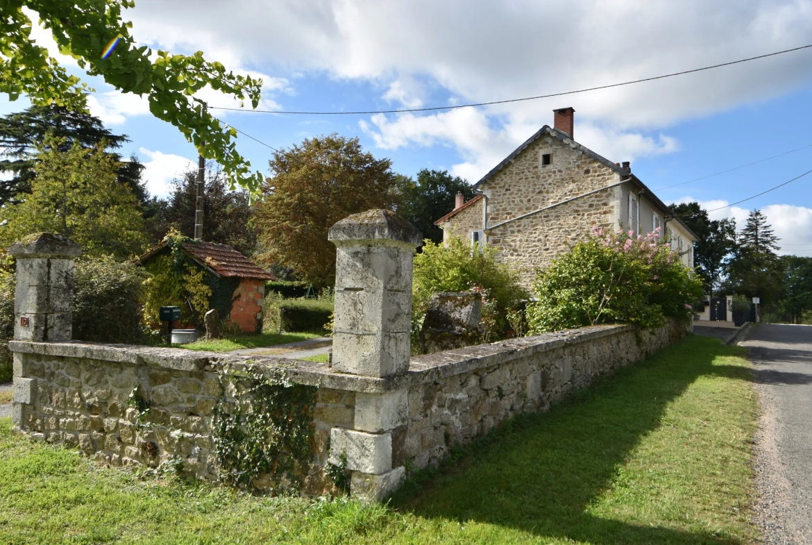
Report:
[[[336,246],[332,370],[376,378],[405,373],[420,231],[391,210],[368,210],[330,227],[328,238]],[[354,429],[330,430],[330,462],[346,461],[353,496],[379,500],[400,484],[404,467],[392,464],[393,432],[406,424],[407,403],[406,390],[357,392]]]

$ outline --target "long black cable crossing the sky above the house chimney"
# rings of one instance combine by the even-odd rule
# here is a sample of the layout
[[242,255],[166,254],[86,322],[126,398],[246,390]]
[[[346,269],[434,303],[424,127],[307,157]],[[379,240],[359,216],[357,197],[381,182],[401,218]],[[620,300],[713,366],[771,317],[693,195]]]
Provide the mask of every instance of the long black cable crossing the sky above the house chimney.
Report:
[[663,74],[662,76],[653,76],[649,78],[643,78],[642,80],[632,80],[632,81],[624,81],[623,83],[617,84],[608,84],[608,85],[598,85],[597,87],[590,87],[587,89],[578,89],[577,91],[564,91],[563,93],[551,93],[546,95],[538,95],[538,97],[524,97],[524,98],[509,98],[507,100],[498,100],[498,101],[491,101],[491,102],[472,102],[470,104],[458,104],[456,106],[433,106],[430,108],[404,108],[402,110],[365,110],[365,111],[285,111],[285,110],[245,110],[244,108],[225,108],[225,107],[218,107],[218,106],[209,106],[214,110],[231,110],[231,111],[245,111],[251,112],[254,114],[287,114],[287,115],[369,115],[369,114],[402,114],[406,112],[421,112],[421,111],[437,111],[437,110],[456,110],[458,108],[473,108],[476,106],[493,106],[495,104],[508,104],[510,102],[525,102],[530,100],[538,100],[540,98],[551,98],[551,97],[564,97],[565,95],[570,94],[577,94],[577,93],[586,93],[588,91],[598,91],[599,89],[611,89],[613,87],[621,87],[623,85],[631,85],[631,84],[639,84],[645,81],[654,81],[654,80],[662,80],[663,78],[670,78],[673,76],[684,76],[685,74],[693,74],[694,72],[711,70],[713,68],[720,68],[720,67],[728,67],[732,64],[739,64],[739,63],[747,63],[749,61],[754,61],[759,58],[767,58],[767,57],[775,57],[775,55],[780,55],[784,53],[792,53],[793,51],[800,51],[806,50],[812,47],[810,45],[801,45],[801,47],[793,47],[790,50],[783,50],[783,51],[775,51],[775,53],[768,53],[763,55],[758,55],[756,57],[749,57],[749,58],[741,58],[737,61],[731,61],[729,63],[721,63],[721,64],[714,64],[709,67],[702,67],[702,68],[693,68],[692,70],[684,70],[679,72],[672,72],[671,74]]

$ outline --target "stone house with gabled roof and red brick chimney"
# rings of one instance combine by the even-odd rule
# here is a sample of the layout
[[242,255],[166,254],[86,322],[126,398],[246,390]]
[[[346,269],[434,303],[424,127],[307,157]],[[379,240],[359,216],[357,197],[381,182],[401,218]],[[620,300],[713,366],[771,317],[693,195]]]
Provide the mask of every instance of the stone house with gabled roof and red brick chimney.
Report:
[[575,110],[554,110],[545,125],[479,180],[477,197],[434,224],[443,239],[457,236],[499,249],[529,288],[534,270],[576,244],[593,226],[648,233],[658,227],[693,267],[698,237],[632,173],[573,140]]

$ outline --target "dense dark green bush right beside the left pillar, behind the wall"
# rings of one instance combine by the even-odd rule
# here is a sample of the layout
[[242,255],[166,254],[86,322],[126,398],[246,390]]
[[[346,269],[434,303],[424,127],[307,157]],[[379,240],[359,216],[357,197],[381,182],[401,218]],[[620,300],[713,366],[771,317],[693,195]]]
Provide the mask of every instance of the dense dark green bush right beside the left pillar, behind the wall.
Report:
[[73,338],[99,343],[145,342],[145,270],[97,257],[76,262]]

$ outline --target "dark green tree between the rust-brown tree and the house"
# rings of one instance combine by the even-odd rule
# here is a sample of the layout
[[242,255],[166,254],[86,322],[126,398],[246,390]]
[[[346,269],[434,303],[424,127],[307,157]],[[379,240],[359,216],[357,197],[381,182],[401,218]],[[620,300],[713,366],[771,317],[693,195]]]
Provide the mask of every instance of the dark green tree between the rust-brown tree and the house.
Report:
[[398,213],[417,227],[423,238],[435,243],[443,240],[443,230],[434,222],[454,210],[456,194],[462,193],[466,201],[475,195],[468,182],[448,171],[423,169],[417,173],[417,180],[400,176],[398,181]]

